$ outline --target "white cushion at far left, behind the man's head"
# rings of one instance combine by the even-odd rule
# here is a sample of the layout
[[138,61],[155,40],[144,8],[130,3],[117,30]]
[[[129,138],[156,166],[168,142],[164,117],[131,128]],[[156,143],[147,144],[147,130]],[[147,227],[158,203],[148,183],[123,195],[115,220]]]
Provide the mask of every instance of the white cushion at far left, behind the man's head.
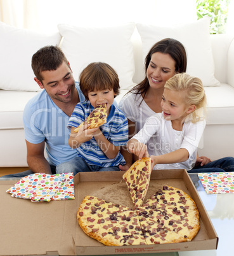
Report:
[[0,89],[41,90],[34,81],[32,55],[42,46],[58,45],[59,32],[42,34],[0,22]]

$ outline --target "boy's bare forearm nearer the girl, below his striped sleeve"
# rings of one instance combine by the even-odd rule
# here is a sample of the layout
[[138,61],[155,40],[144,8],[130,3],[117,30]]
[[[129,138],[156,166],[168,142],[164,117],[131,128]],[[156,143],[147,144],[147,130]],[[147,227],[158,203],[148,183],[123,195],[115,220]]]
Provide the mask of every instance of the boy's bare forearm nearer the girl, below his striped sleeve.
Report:
[[103,153],[105,153],[108,159],[114,159],[119,153],[120,146],[115,146],[110,143],[99,128],[96,132],[94,132],[94,139],[96,139],[96,143],[98,143],[98,146],[100,146],[101,150]]

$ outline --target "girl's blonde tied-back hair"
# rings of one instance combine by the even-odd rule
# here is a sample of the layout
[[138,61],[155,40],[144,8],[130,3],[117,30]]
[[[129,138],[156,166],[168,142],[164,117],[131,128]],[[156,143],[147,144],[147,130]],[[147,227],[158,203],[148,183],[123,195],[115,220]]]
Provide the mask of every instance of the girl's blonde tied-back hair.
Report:
[[[195,111],[192,112],[193,123],[204,117],[206,96],[202,81],[199,78],[190,76],[187,73],[176,74],[167,80],[164,88],[177,92],[185,92],[183,99],[185,104],[187,106],[196,106]],[[203,115],[201,115],[200,110],[203,110]]]

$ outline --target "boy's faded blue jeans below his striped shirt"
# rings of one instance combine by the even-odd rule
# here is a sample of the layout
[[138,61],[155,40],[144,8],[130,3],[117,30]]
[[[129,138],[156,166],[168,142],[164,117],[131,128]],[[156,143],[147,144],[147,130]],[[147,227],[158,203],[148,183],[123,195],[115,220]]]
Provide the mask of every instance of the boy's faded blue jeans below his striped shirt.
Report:
[[74,173],[75,175],[84,171],[120,171],[120,169],[118,166],[91,166],[82,157],[75,157],[68,162],[63,162],[56,166],[56,173]]

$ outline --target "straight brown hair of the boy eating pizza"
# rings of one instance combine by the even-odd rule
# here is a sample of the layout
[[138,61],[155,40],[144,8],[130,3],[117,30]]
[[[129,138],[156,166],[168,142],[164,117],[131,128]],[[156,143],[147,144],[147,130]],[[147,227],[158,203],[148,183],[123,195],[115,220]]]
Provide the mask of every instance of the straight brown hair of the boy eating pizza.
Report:
[[86,100],[88,93],[94,90],[114,90],[119,94],[119,77],[115,70],[105,62],[90,63],[80,75],[80,88]]

